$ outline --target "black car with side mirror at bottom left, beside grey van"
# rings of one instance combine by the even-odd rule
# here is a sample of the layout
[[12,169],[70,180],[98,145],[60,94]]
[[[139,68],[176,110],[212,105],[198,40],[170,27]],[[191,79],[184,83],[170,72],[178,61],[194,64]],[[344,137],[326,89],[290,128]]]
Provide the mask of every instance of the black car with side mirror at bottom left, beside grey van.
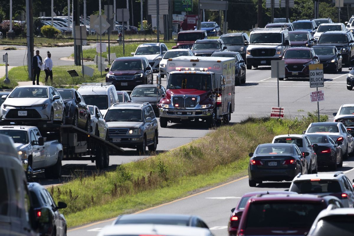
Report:
[[67,222],[58,209],[66,208],[64,202],[55,204],[50,193],[38,183],[28,183],[28,191],[32,199],[36,215],[36,228],[40,235],[67,235]]

